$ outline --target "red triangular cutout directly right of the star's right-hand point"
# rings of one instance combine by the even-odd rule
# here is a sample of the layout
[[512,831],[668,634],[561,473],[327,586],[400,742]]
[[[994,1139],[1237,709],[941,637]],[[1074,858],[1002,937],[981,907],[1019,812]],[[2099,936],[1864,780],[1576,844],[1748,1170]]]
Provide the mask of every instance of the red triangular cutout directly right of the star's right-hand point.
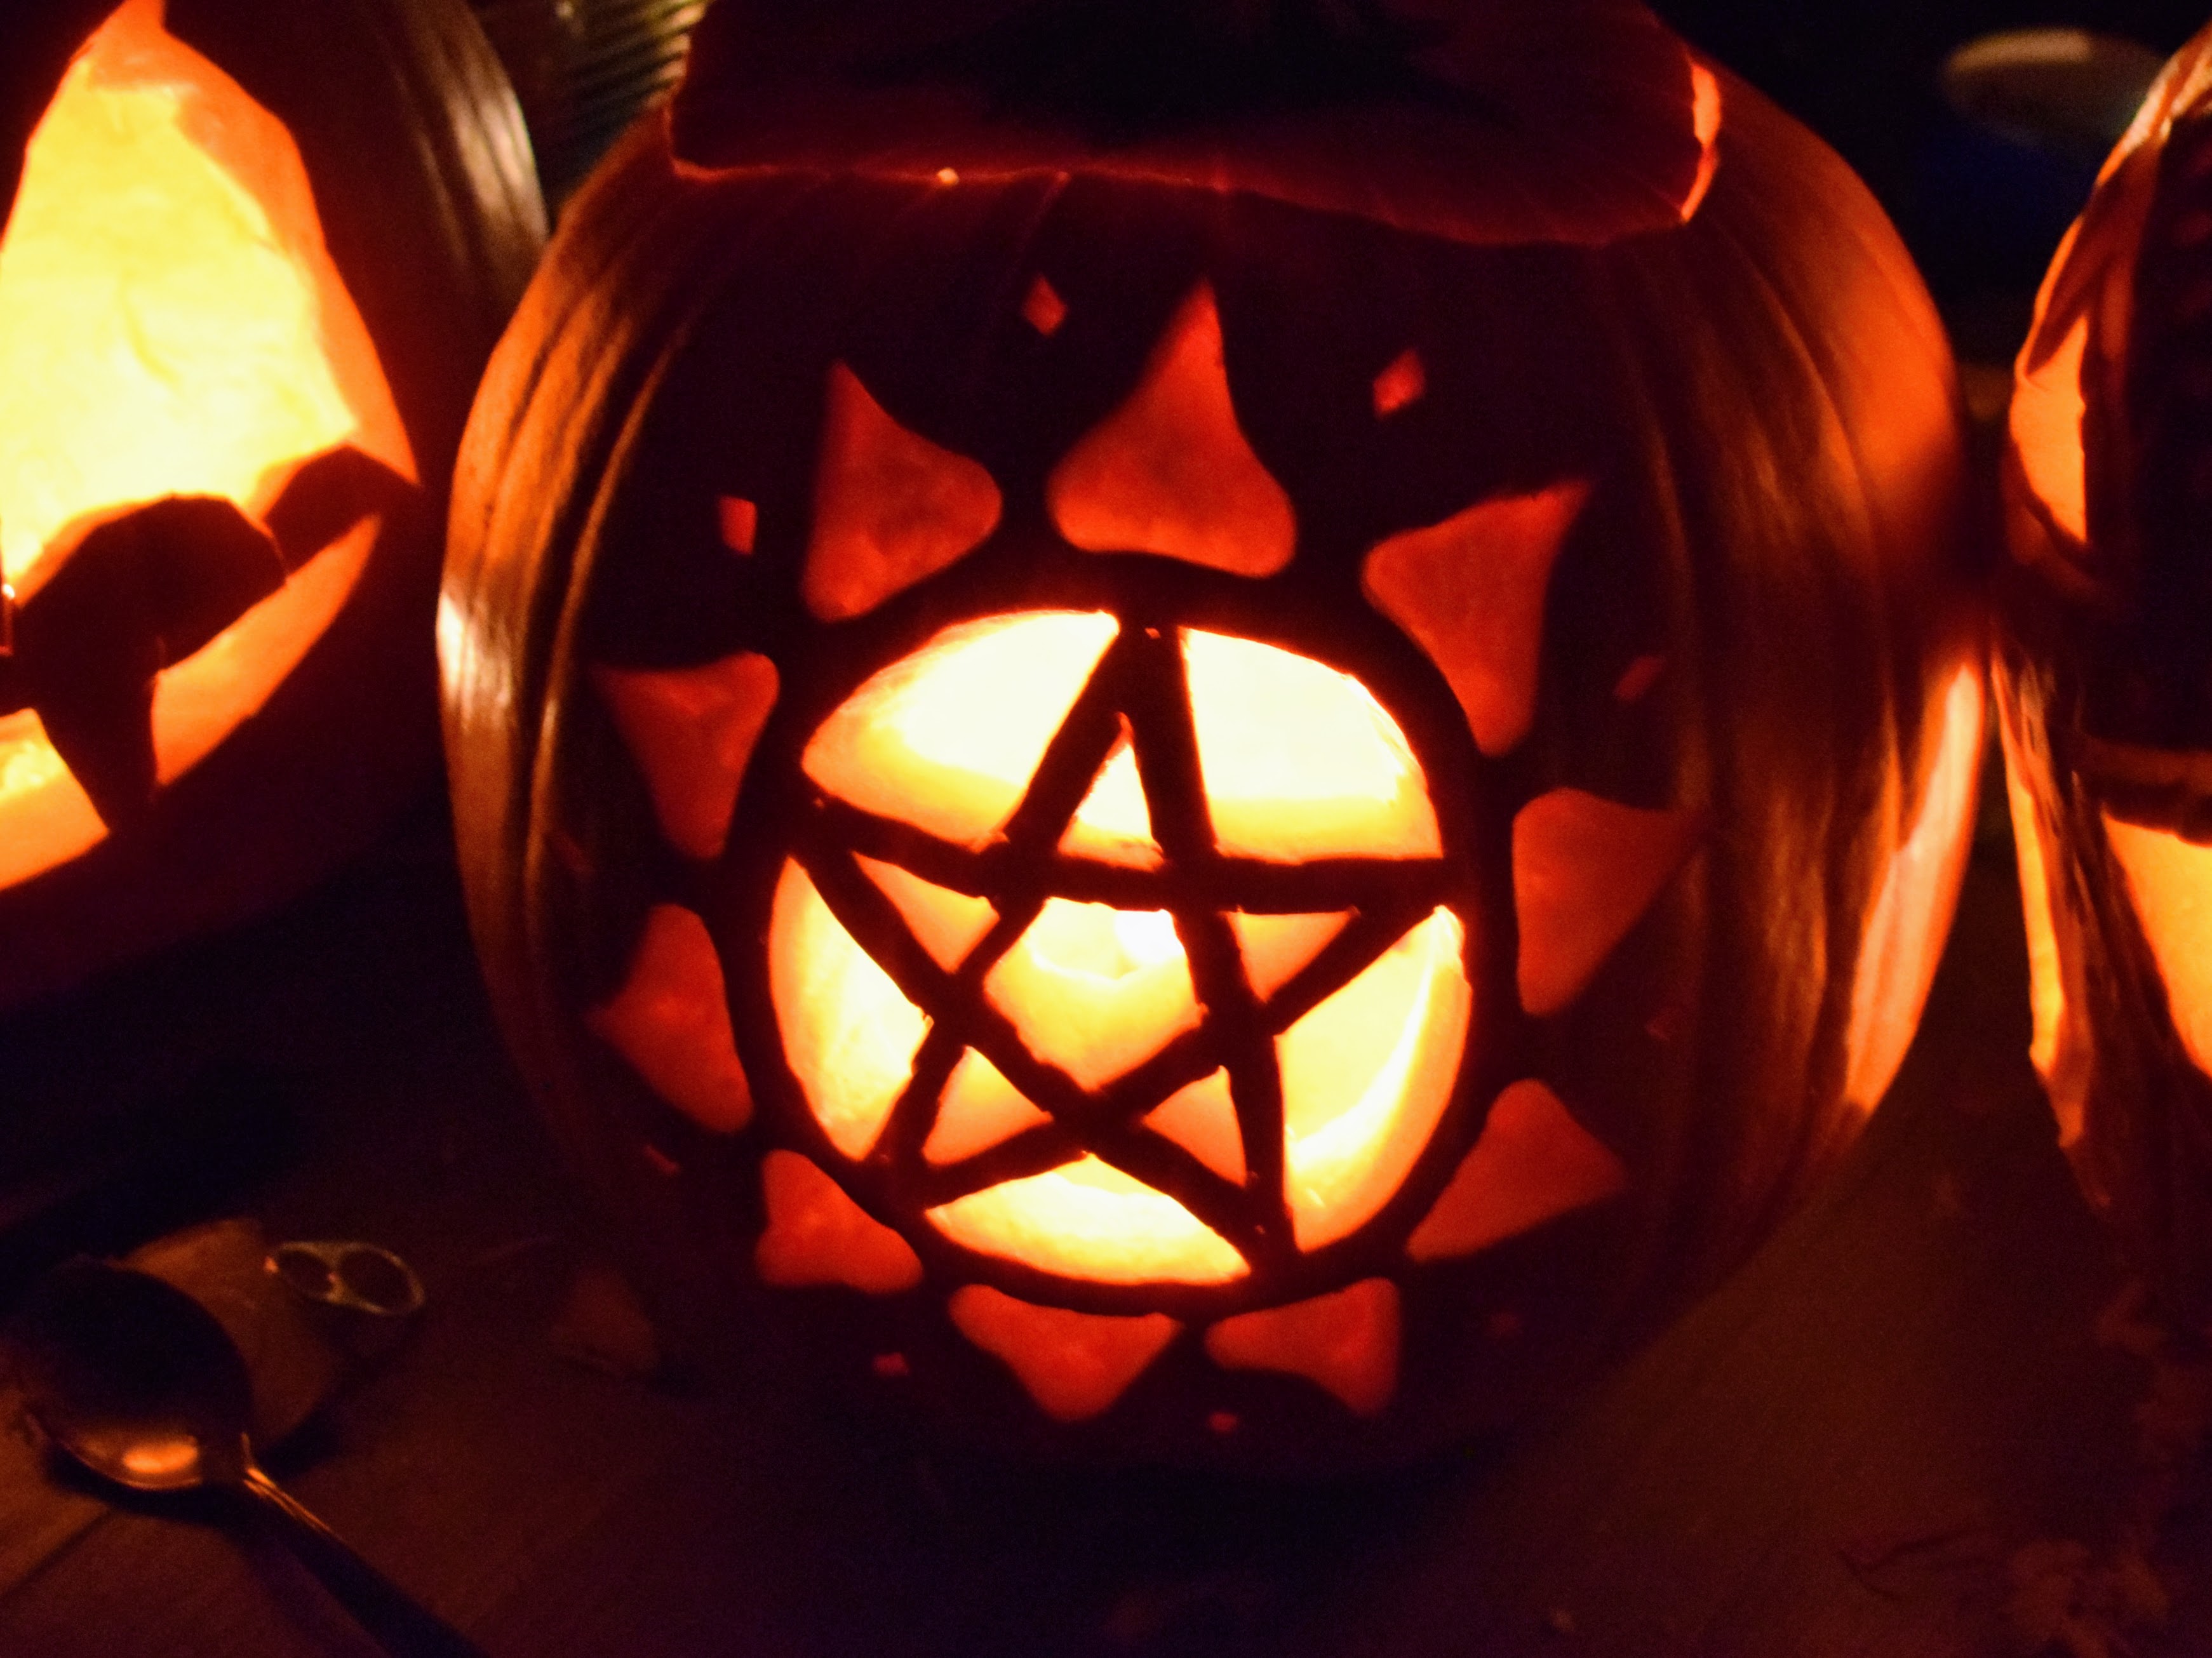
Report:
[[1697,811],[1624,807],[1582,789],[1522,807],[1513,818],[1522,1008],[1557,1012],[1582,995],[1703,833]]

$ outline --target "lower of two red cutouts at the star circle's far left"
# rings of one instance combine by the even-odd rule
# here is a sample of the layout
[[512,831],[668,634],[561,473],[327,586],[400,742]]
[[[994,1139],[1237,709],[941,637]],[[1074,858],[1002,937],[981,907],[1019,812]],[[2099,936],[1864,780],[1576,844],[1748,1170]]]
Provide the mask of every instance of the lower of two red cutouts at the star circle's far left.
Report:
[[584,1024],[699,1127],[734,1134],[752,1119],[721,957],[706,922],[681,904],[646,911],[630,977],[613,1001],[586,1012]]

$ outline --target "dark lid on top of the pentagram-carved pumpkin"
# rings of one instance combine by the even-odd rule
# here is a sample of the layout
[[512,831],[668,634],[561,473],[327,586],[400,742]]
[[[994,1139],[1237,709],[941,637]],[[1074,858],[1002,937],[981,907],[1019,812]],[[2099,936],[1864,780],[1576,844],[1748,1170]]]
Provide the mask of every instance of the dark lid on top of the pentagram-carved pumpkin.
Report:
[[1697,210],[1721,95],[1632,0],[721,0],[670,119],[701,170],[1091,172],[1604,243]]

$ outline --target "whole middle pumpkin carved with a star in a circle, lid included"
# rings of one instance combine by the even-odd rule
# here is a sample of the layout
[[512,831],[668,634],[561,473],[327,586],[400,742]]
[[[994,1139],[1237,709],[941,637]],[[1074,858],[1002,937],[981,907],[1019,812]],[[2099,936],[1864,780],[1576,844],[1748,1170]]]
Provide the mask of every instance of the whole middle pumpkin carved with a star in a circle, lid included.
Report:
[[440,623],[487,973],[703,1351],[1409,1455],[1741,1258],[1902,1054],[1980,741],[1949,356],[1637,7],[998,11],[726,0],[564,217]]

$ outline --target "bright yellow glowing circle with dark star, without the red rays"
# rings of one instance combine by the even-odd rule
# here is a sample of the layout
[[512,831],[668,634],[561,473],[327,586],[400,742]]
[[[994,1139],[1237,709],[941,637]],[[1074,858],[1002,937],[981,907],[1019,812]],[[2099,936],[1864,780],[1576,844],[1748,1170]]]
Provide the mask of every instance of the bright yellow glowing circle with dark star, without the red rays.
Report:
[[1427,1152],[1471,904],[1354,676],[987,617],[860,685],[801,765],[770,995],[887,1214],[1086,1289],[1294,1282]]

